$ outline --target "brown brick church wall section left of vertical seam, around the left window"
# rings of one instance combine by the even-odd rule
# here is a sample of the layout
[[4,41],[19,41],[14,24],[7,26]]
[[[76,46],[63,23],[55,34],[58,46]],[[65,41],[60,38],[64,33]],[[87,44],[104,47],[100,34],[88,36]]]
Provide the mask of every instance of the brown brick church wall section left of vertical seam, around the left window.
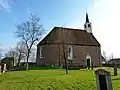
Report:
[[40,58],[40,48],[37,49],[37,65],[52,65],[59,62],[58,45],[43,45],[43,58]]

